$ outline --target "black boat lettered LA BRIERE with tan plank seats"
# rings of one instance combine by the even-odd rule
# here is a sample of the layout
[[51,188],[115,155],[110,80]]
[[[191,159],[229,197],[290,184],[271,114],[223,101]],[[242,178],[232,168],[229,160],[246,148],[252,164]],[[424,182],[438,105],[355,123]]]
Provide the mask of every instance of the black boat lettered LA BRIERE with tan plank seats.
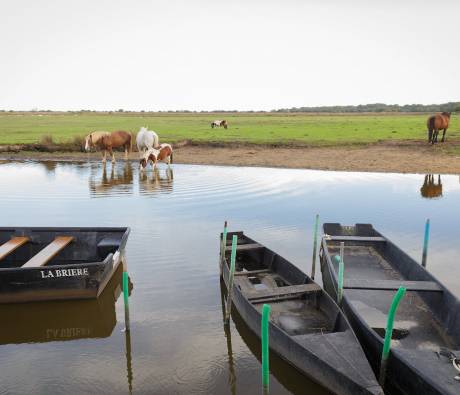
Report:
[[129,228],[0,228],[0,303],[98,297]]

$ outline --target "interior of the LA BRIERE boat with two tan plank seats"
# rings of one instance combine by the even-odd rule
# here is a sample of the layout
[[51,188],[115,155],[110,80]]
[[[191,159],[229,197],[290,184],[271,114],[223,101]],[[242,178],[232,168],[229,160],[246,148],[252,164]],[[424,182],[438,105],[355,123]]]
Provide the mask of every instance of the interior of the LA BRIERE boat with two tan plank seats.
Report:
[[100,262],[126,237],[126,228],[0,228],[0,269]]

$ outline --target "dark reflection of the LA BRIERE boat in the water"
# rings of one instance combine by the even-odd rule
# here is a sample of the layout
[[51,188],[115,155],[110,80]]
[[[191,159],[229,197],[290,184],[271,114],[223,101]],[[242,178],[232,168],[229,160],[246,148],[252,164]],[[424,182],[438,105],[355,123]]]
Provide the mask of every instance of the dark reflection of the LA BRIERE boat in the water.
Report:
[[[119,265],[97,299],[0,305],[0,345],[47,343],[109,337],[117,316],[115,302],[122,292]],[[133,285],[129,282],[129,291]]]

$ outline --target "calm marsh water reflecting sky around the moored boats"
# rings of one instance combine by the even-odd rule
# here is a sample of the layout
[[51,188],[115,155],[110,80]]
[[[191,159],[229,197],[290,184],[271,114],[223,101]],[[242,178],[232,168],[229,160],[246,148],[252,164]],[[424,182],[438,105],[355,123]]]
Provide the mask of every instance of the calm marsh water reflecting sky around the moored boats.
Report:
[[[428,269],[460,296],[459,203],[454,175],[0,162],[1,226],[130,226],[133,287],[130,333],[119,278],[98,301],[0,306],[0,394],[258,393],[257,337],[222,323],[224,220],[309,272],[317,213],[372,223],[417,260],[430,218]],[[272,394],[325,393],[270,362]]]

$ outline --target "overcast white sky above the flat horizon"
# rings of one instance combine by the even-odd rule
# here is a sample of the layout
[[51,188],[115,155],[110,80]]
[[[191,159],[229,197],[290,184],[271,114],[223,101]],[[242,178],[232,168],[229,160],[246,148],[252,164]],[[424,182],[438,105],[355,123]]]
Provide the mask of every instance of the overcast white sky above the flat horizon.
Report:
[[0,0],[0,109],[460,100],[457,0]]

